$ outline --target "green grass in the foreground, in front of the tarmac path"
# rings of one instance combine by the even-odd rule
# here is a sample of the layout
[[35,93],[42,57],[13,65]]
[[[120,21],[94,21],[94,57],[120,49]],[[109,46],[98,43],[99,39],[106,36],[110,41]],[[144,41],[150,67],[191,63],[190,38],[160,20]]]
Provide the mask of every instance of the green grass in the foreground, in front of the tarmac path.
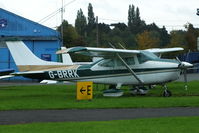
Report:
[[2,133],[198,133],[199,117],[0,125]]

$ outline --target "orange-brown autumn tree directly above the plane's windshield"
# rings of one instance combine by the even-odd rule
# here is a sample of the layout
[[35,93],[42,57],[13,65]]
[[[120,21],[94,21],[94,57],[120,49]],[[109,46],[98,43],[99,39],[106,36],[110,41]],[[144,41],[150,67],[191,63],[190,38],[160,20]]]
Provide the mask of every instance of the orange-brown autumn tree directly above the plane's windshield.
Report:
[[137,35],[136,40],[138,49],[154,48],[160,43],[158,33],[155,31],[144,31],[143,33]]

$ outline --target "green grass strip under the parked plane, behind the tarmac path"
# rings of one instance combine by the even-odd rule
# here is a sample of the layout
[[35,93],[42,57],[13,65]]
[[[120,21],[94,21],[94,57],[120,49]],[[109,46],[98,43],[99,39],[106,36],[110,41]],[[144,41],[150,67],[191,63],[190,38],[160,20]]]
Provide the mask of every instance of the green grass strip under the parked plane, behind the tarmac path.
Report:
[[103,85],[94,87],[92,101],[76,101],[75,85],[34,85],[1,86],[0,110],[24,109],[69,109],[69,108],[151,108],[151,107],[199,107],[199,82],[168,84],[173,96],[161,96],[163,89],[156,86],[146,96],[132,96],[129,89],[123,87],[124,95],[118,98],[103,97]]

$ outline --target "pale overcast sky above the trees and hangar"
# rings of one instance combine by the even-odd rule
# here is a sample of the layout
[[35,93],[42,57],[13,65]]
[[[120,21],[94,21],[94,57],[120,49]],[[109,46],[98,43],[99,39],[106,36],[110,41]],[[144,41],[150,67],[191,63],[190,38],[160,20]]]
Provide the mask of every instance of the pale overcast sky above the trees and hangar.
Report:
[[[59,9],[61,1],[1,0],[0,8],[53,28],[60,25],[60,13],[48,21],[40,20]],[[64,5],[68,4],[65,6],[64,19],[74,25],[80,8],[87,17],[89,3],[93,6],[95,16],[99,17],[99,22],[107,24],[127,23],[128,7],[133,4],[139,7],[141,19],[147,24],[155,22],[160,27],[165,25],[167,30],[182,29],[188,22],[199,27],[199,16],[196,15],[199,0],[64,0]]]

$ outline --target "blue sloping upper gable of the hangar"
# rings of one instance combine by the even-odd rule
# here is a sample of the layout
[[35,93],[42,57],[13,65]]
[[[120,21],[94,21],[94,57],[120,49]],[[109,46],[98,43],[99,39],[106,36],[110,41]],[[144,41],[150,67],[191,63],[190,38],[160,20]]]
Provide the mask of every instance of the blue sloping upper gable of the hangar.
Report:
[[59,39],[60,34],[56,30],[0,8],[0,40],[15,37],[21,37],[22,40],[54,40]]

